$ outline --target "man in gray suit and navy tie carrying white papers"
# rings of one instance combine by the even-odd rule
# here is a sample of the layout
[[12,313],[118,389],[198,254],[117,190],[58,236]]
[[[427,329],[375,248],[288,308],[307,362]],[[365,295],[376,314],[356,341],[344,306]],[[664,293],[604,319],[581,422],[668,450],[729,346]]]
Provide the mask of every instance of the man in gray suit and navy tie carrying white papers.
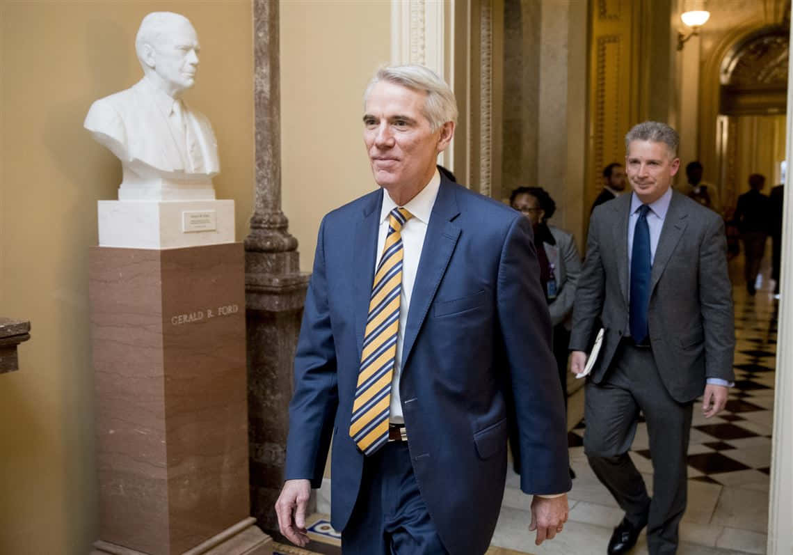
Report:
[[[679,137],[646,121],[625,137],[633,188],[592,213],[570,339],[571,371],[602,322],[587,378],[584,451],[625,511],[607,553],[627,553],[647,526],[649,553],[676,553],[686,507],[694,400],[710,418],[734,380],[734,322],[722,218],[672,191]],[[639,411],[653,457],[653,498],[627,455]]]

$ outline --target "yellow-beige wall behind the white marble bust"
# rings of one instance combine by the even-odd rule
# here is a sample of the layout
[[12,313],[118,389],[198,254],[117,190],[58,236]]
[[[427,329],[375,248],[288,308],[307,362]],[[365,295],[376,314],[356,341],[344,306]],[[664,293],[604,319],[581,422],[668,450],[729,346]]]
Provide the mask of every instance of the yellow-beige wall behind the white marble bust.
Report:
[[90,102],[140,78],[133,42],[152,10],[184,13],[201,40],[187,99],[213,121],[247,233],[253,175],[251,2],[0,0],[0,314],[29,318],[21,370],[0,376],[0,553],[87,553],[96,539],[87,300],[96,201],[117,160],[82,129]]

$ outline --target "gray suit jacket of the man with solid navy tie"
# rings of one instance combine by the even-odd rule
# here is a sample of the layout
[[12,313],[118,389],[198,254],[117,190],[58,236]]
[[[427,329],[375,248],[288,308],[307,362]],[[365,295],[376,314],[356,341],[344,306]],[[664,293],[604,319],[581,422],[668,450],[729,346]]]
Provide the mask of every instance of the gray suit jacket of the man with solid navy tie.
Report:
[[[584,268],[573,310],[570,349],[586,351],[602,322],[606,333],[592,380],[600,383],[619,341],[629,332],[628,218],[630,198],[598,206],[589,222]],[[702,395],[706,378],[733,381],[732,285],[724,222],[718,214],[672,193],[653,260],[649,341],[672,398]]]

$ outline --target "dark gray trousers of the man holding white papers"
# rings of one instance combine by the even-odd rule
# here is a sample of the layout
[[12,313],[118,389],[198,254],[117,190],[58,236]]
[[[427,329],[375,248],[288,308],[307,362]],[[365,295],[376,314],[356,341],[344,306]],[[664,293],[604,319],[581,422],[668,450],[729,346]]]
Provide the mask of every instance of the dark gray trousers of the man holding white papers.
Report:
[[[686,457],[693,402],[677,403],[661,383],[652,350],[623,342],[611,370],[585,389],[584,452],[634,526],[647,525],[651,555],[676,553],[686,508]],[[628,457],[639,410],[653,460],[653,498]]]

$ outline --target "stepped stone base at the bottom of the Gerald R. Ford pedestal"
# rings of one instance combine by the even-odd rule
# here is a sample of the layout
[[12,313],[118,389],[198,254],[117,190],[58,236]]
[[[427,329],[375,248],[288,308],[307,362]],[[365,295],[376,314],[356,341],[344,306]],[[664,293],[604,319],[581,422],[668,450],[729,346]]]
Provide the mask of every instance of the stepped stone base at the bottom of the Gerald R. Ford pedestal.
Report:
[[[255,518],[246,518],[188,549],[182,555],[272,555],[273,539],[255,526]],[[98,540],[90,555],[154,555],[122,545]]]

